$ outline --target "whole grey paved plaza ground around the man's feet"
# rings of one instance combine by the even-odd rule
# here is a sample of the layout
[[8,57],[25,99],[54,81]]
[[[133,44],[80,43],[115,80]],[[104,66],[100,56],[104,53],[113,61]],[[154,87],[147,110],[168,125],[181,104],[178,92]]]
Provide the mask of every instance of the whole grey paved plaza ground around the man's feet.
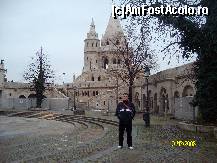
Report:
[[[117,121],[113,114],[89,112],[86,116]],[[103,121],[74,119],[69,123],[1,115],[0,162],[217,162],[216,139],[180,130],[176,124],[152,116],[151,127],[146,128],[141,115],[136,115],[134,150],[130,150],[126,137],[124,148],[117,148],[118,127]],[[177,140],[194,140],[196,146],[173,146]]]

